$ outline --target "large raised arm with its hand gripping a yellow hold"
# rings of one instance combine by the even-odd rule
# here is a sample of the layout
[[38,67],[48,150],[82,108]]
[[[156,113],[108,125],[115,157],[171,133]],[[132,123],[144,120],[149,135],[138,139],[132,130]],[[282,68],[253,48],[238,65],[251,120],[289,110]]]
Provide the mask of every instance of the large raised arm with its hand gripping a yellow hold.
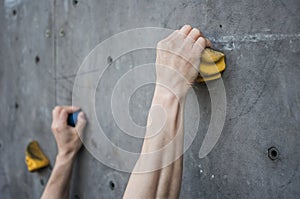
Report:
[[210,42],[184,26],[159,42],[156,88],[140,158],[124,198],[178,198],[182,178],[183,110]]

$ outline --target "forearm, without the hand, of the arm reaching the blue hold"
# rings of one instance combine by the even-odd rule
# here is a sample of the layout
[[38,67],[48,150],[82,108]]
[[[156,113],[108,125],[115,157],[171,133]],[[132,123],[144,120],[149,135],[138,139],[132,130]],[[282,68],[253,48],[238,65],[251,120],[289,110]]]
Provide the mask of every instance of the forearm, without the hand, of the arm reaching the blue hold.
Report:
[[41,199],[69,197],[74,155],[57,155],[50,179]]

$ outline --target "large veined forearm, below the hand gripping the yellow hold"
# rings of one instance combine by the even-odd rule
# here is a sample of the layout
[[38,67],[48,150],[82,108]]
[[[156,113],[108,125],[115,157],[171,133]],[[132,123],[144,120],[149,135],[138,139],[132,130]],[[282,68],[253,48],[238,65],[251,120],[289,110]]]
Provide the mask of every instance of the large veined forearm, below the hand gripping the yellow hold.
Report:
[[[141,157],[124,198],[178,198],[182,177],[183,106],[183,98],[176,98],[162,86],[156,87]],[[164,114],[160,108],[164,109]],[[143,155],[153,152],[153,156]],[[151,171],[153,168],[159,169]],[[134,173],[145,170],[151,172]]]

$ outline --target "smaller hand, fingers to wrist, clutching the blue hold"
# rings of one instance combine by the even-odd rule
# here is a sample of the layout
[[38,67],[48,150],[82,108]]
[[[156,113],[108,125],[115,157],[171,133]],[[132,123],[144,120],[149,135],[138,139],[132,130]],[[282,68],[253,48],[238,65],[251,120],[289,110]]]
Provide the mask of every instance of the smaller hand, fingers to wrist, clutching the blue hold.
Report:
[[56,106],[53,109],[51,128],[57,143],[58,156],[74,156],[82,145],[79,136],[86,124],[84,113],[79,113],[75,128],[67,125],[68,115],[78,110],[79,108],[72,106]]

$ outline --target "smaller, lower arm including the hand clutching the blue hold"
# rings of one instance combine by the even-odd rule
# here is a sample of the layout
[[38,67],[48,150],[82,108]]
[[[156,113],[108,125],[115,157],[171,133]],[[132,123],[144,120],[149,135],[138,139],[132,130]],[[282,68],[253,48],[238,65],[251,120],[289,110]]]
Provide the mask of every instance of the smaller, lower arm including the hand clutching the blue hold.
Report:
[[82,134],[86,124],[84,113],[81,112],[75,128],[67,125],[68,114],[77,110],[79,108],[71,106],[57,106],[53,110],[51,128],[57,143],[58,154],[42,199],[66,199],[69,197],[72,167],[75,156],[82,145],[79,134]]

